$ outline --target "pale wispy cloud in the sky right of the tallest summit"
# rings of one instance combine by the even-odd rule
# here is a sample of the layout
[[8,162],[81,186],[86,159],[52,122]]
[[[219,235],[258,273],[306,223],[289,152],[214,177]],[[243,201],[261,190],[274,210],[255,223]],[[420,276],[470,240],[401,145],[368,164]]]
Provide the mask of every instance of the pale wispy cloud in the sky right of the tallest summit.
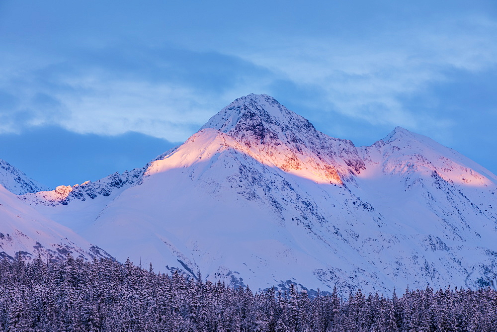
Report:
[[324,99],[321,105],[329,105],[324,110],[371,124],[419,129],[430,122],[446,126],[450,120],[433,121],[433,114],[422,114],[406,98],[451,81],[453,69],[495,67],[496,35],[496,21],[471,16],[379,31],[370,40],[280,39],[263,52],[251,51],[248,44],[233,54],[297,85],[315,86]]

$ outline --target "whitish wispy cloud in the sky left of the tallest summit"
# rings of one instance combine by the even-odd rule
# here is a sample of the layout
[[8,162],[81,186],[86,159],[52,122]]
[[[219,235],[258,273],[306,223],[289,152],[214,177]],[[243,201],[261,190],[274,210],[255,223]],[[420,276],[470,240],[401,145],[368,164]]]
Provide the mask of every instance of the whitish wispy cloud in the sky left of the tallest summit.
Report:
[[[268,71],[238,57],[129,45],[27,67],[12,61],[0,80],[1,132],[59,125],[77,133],[135,131],[182,141]],[[118,52],[131,54],[121,55]],[[4,67],[5,68],[5,67]],[[249,89],[249,92],[247,90]]]

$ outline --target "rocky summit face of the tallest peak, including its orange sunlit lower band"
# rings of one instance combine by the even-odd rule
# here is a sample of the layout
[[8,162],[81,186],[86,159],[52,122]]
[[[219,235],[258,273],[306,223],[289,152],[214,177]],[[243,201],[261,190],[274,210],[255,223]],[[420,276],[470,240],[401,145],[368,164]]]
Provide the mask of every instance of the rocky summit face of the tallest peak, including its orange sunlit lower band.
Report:
[[271,160],[286,171],[305,170],[328,182],[329,178],[341,182],[340,177],[348,178],[364,167],[351,141],[323,134],[267,94],[236,99],[201,130],[208,128],[226,133],[258,160]]

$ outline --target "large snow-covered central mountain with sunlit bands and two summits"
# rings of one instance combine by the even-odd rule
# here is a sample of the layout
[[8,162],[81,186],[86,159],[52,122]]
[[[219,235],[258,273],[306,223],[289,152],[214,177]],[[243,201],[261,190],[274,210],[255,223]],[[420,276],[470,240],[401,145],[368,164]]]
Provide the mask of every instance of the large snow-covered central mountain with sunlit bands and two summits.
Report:
[[19,197],[119,260],[252,288],[474,287],[497,262],[496,175],[402,128],[356,148],[267,95],[112,176]]

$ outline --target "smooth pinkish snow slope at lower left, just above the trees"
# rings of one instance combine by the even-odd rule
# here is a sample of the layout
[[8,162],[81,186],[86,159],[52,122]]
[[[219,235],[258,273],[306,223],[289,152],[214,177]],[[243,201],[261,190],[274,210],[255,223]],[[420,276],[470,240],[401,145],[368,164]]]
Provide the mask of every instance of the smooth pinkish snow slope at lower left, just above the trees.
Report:
[[44,259],[110,257],[72,230],[42,216],[31,206],[0,185],[0,257],[19,254],[30,260],[40,254]]

